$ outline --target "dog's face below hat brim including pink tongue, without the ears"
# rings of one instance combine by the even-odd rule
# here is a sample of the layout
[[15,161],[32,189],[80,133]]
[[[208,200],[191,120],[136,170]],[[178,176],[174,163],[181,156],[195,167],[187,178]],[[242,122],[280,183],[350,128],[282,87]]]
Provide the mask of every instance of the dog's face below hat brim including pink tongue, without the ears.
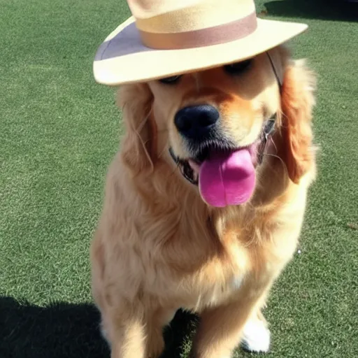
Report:
[[268,55],[149,86],[159,131],[167,131],[183,175],[199,183],[203,199],[212,206],[250,199],[264,122],[280,106]]

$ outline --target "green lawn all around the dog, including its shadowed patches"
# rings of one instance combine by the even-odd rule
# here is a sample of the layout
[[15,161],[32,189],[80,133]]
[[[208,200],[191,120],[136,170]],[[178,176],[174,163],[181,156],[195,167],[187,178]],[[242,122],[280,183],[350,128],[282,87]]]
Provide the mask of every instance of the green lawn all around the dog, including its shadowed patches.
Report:
[[[335,4],[257,1],[268,18],[310,25],[292,50],[319,74],[319,176],[301,255],[266,310],[277,358],[358,352],[358,24],[354,6]],[[88,248],[120,115],[113,90],[94,83],[92,59],[129,12],[124,0],[0,8],[0,357],[108,357],[90,304]],[[193,324],[178,315],[166,357],[180,355]]]

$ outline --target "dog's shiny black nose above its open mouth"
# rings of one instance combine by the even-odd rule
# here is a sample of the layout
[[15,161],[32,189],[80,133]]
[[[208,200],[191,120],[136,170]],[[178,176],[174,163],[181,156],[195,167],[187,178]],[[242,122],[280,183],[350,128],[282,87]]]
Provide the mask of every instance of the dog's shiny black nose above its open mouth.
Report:
[[201,139],[210,135],[219,120],[219,112],[213,106],[201,104],[178,110],[174,123],[180,134],[189,139]]

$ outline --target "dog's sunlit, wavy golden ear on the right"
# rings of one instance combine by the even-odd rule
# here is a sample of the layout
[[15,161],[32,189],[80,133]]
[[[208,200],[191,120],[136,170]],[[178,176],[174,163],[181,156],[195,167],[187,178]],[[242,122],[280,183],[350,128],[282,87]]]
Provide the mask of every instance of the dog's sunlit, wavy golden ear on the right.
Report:
[[289,61],[285,67],[281,94],[280,157],[289,178],[299,182],[313,161],[312,110],[315,105],[315,76],[304,60]]

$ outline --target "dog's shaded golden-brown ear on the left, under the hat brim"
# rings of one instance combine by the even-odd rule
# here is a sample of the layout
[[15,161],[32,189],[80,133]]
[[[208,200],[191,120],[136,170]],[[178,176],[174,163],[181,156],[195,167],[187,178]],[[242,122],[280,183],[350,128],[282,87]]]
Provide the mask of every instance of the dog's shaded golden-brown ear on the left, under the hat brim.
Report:
[[122,161],[134,175],[153,167],[157,129],[152,117],[152,101],[152,93],[144,83],[123,85],[117,94],[125,131]]

